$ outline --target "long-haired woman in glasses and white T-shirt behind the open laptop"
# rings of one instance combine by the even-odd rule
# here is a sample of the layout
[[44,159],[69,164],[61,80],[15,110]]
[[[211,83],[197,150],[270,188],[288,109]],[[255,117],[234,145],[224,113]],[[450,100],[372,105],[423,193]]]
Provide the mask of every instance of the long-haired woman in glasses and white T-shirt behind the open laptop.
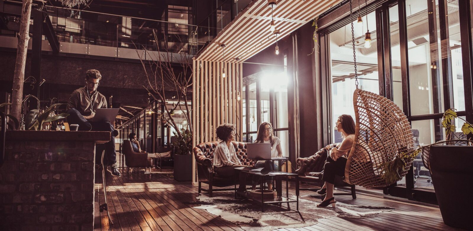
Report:
[[[258,128],[258,135],[254,143],[269,143],[271,144],[271,157],[281,157],[281,140],[278,137],[272,135],[272,125],[269,122],[263,122]],[[254,167],[264,168],[266,171],[279,171],[278,165],[272,163],[272,161],[258,161]],[[272,180],[268,180],[268,189],[272,190]],[[253,186],[255,188],[255,186]]]

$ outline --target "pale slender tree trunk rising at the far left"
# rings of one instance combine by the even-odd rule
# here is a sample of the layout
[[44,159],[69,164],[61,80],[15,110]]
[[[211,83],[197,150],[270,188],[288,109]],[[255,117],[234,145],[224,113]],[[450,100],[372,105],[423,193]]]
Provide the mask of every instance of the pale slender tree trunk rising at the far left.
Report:
[[21,10],[20,32],[18,34],[17,60],[15,62],[15,75],[13,76],[13,89],[11,94],[11,114],[18,120],[21,117],[21,101],[23,100],[23,81],[25,80],[26,51],[29,40],[29,20],[33,0],[23,0]]

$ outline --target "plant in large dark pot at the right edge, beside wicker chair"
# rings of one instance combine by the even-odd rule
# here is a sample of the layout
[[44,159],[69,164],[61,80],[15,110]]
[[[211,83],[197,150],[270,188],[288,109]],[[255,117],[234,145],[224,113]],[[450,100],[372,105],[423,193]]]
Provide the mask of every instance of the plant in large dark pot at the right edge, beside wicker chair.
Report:
[[[385,170],[382,178],[394,183],[400,180],[397,172],[405,168],[405,163],[421,153],[424,166],[429,169],[432,177],[444,223],[456,228],[471,229],[473,211],[462,207],[473,206],[470,195],[473,190],[470,182],[473,176],[473,141],[455,135],[456,118],[454,109],[448,109],[443,115],[442,127],[445,128],[446,140],[400,153],[399,157],[379,167]],[[473,133],[473,126],[464,120],[461,130],[464,135],[468,135]]]

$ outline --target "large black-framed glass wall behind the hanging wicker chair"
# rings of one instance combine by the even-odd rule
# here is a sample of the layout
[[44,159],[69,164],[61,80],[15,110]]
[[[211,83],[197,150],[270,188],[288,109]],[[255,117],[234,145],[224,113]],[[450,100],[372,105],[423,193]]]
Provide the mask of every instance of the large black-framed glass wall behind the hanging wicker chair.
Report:
[[[369,10],[361,10],[363,23],[357,25],[354,22],[359,88],[378,94],[382,89],[391,90],[383,94],[406,112],[415,146],[443,140],[445,129],[441,126],[441,119],[445,110],[455,108],[460,116],[471,113],[465,111],[464,78],[471,76],[463,73],[462,61],[467,55],[461,50],[462,42],[465,42],[460,36],[459,1],[380,0],[377,3],[376,6],[368,5]],[[470,6],[470,12],[472,10],[473,6]],[[371,11],[368,17],[363,14],[366,11]],[[330,53],[323,54],[330,66],[323,68],[330,69],[325,73],[331,73],[332,80],[328,101],[332,108],[332,121],[329,123],[333,132],[332,142],[341,141],[340,134],[333,129],[338,116],[354,114],[351,26],[350,19],[345,20],[345,26],[334,25],[325,29],[326,33],[321,32],[330,42],[327,49]],[[401,25],[404,22],[405,25]],[[367,26],[371,32],[371,47],[364,46]],[[407,43],[401,47],[403,41]],[[378,48],[383,50],[378,51]],[[409,108],[404,108],[406,106]],[[461,121],[456,123],[461,124]],[[462,134],[459,127],[455,135]],[[395,190],[386,188],[385,193],[415,200],[422,200],[414,198],[415,192],[434,195],[429,171],[423,166],[420,156],[414,159],[408,175],[393,186],[402,187]]]

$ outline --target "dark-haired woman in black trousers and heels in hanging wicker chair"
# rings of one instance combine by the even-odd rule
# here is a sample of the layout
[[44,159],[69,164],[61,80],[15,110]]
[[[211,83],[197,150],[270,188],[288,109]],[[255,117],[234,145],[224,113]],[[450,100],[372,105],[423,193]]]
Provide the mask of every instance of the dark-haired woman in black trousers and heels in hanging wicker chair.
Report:
[[351,146],[355,139],[355,121],[350,115],[343,114],[339,116],[335,125],[337,130],[342,133],[343,140],[342,143],[331,144],[325,147],[325,149],[329,151],[322,176],[322,180],[324,180],[325,183],[317,193],[326,195],[324,201],[318,204],[317,207],[327,207],[328,205],[335,207],[336,201],[333,197],[335,175],[345,175],[347,156],[350,153]]

